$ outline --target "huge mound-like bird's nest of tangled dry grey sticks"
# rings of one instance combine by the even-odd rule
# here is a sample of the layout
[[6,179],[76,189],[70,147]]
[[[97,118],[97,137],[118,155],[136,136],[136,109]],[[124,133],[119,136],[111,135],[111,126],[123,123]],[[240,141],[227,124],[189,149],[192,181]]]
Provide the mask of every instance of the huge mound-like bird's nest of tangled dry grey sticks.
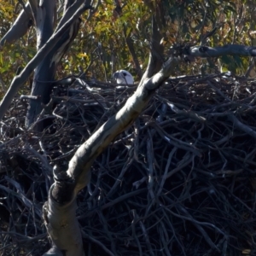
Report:
[[[91,167],[77,215],[85,255],[255,255],[256,83],[233,75],[170,79]],[[0,253],[41,255],[53,166],[136,86],[58,85],[43,133],[26,130],[26,101],[1,122]]]

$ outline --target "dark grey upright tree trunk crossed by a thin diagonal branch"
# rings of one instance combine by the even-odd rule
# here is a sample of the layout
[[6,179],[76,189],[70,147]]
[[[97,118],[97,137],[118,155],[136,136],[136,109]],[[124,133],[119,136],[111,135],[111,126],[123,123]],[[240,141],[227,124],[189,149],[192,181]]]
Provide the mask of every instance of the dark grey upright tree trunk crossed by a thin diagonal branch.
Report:
[[[44,0],[41,5],[36,3],[37,1],[31,1],[32,13],[35,20],[37,30],[37,48],[41,49],[44,44],[51,37],[56,17],[55,1]],[[58,27],[61,27],[68,19],[68,16],[74,13],[75,8],[79,7],[79,2],[74,0],[66,0],[64,4],[64,13],[70,13],[65,15]],[[71,7],[73,5],[73,7]],[[61,39],[55,44],[53,49],[48,55],[44,57],[38,67],[35,69],[33,83],[32,83],[32,96],[39,96],[36,99],[31,99],[26,117],[26,126],[32,125],[32,123],[38,118],[39,113],[44,109],[44,105],[49,103],[50,94],[53,89],[53,84],[49,81],[55,79],[56,67],[58,66],[61,58],[67,52],[70,45],[73,43],[73,39],[76,38],[79,32],[80,20],[73,20],[73,24],[67,28],[67,31],[63,34]],[[34,130],[44,130],[45,123],[38,123],[34,126]]]

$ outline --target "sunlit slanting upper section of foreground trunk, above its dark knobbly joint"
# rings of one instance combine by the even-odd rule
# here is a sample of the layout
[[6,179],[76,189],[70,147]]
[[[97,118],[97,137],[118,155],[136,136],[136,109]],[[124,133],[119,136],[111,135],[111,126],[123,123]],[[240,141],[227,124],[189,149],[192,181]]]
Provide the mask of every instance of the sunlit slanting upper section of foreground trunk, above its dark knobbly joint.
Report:
[[73,159],[70,160],[67,170],[67,174],[75,179],[76,192],[83,189],[90,181],[92,162],[108,147],[114,137],[137,119],[154,95],[154,90],[169,78],[178,61],[177,58],[170,58],[159,73],[156,73],[151,79],[142,81],[134,95],[127,100],[125,106],[79,147]]

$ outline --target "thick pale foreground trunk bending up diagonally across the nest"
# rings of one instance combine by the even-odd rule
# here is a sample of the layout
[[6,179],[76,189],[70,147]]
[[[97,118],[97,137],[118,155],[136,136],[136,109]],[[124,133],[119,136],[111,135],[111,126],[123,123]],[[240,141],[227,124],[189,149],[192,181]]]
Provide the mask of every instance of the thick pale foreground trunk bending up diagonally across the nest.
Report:
[[[48,203],[44,206],[44,219],[53,245],[61,251],[65,250],[66,255],[83,255],[79,224],[75,218],[76,195],[90,182],[90,166],[113,138],[137,119],[154,91],[170,76],[178,61],[177,58],[170,58],[159,73],[151,79],[144,79],[125,106],[79,147],[69,162],[67,172],[55,174],[55,183],[49,190]],[[73,247],[73,244],[77,247]]]

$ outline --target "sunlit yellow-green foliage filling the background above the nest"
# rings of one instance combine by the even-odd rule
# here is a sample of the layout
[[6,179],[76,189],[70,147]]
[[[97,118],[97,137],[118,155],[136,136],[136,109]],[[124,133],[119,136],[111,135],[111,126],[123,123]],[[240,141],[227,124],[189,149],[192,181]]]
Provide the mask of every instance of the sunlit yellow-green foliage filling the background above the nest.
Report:
[[[178,44],[205,44],[218,46],[224,44],[256,44],[256,3],[252,0],[127,0],[119,1],[123,6],[121,13],[116,12],[113,1],[102,1],[96,13],[84,14],[78,38],[63,58],[56,79],[78,73],[79,68],[96,79],[110,79],[111,73],[125,68],[137,74],[134,60],[125,43],[125,37],[133,42],[137,60],[143,68],[148,62],[151,13],[160,12],[160,23],[165,45],[168,49]],[[160,4],[161,3],[161,4]],[[1,37],[9,30],[21,6],[18,1],[0,2]],[[59,14],[61,15],[61,13]],[[205,38],[207,32],[217,28],[213,35]],[[0,76],[9,84],[17,67],[25,66],[36,51],[36,34],[33,28],[29,34],[13,45],[5,45],[0,54]],[[218,70],[231,70],[244,74],[249,59],[239,56],[224,56],[212,60]],[[196,60],[193,65],[183,65],[177,75],[212,73],[212,65],[204,60]],[[214,66],[213,65],[213,66]]]

